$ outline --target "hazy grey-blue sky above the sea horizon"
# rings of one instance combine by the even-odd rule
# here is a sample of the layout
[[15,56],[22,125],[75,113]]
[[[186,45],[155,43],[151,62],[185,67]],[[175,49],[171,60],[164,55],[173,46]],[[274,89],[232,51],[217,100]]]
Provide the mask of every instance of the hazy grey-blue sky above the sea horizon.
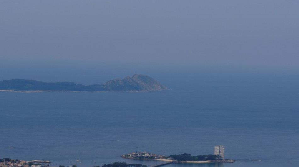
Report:
[[299,71],[298,6],[295,0],[0,1],[0,79],[38,78],[34,73],[47,69],[57,76],[59,69],[119,76]]

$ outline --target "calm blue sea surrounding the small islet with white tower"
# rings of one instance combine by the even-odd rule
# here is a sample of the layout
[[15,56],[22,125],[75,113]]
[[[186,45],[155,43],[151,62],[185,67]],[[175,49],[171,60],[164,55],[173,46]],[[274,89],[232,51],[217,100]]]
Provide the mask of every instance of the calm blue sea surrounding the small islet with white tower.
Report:
[[[50,166],[127,162],[131,152],[213,154],[234,163],[167,167],[299,165],[299,80],[286,74],[159,76],[154,92],[0,92],[0,158]],[[76,161],[78,160],[78,161]]]

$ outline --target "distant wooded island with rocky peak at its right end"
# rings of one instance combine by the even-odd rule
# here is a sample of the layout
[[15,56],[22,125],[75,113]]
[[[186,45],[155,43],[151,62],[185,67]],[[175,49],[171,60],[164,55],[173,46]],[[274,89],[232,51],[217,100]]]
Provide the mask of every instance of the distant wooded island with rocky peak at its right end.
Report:
[[162,91],[168,90],[159,81],[142,74],[113,79],[104,84],[82,85],[73,82],[47,83],[26,79],[0,81],[2,91]]

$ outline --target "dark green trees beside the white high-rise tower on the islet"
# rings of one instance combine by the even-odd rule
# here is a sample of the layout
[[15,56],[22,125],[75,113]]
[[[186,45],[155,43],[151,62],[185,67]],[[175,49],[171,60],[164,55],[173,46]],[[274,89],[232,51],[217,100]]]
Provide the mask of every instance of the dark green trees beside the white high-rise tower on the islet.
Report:
[[177,161],[215,161],[215,160],[222,160],[220,155],[197,155],[191,156],[191,154],[180,154],[180,155],[170,155],[169,157],[173,158]]

